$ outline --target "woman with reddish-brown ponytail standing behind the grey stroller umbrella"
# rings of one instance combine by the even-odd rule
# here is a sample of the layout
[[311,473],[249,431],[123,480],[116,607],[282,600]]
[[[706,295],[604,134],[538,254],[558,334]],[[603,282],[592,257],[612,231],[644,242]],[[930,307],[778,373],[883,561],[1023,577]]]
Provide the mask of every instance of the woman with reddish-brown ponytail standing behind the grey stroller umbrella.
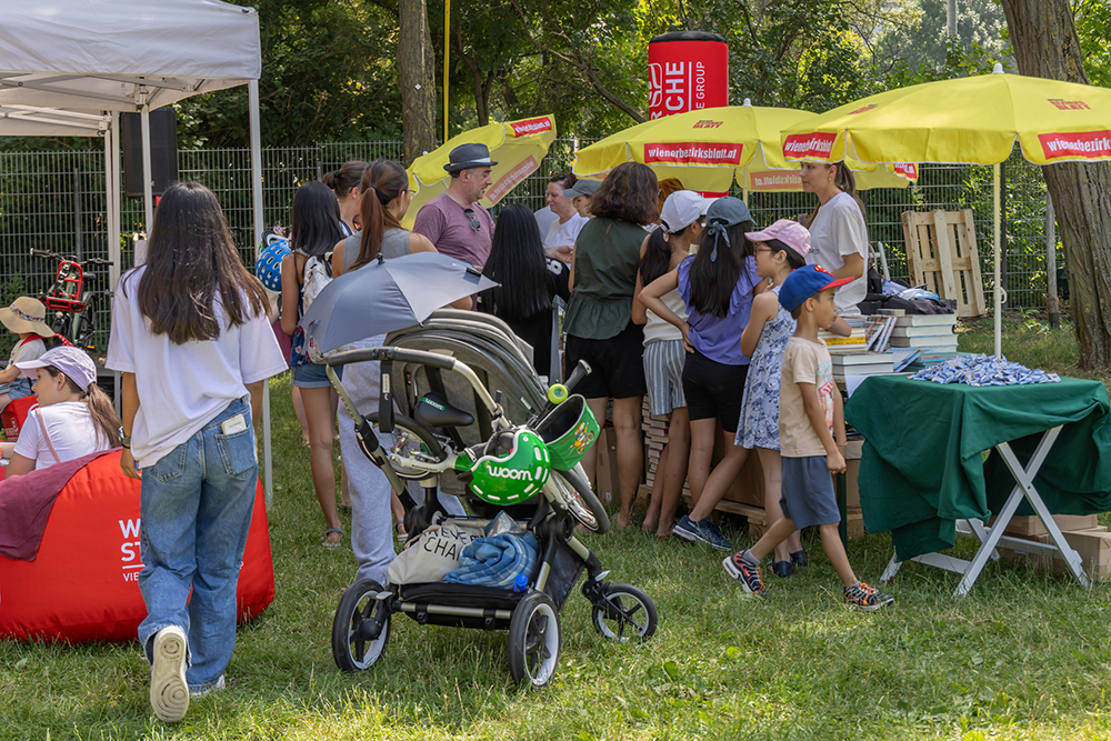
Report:
[[[332,271],[340,276],[358,271],[366,264],[414,252],[436,252],[423,234],[406,231],[401,220],[409,209],[409,176],[391,160],[374,160],[363,171],[359,186],[362,193],[359,210],[362,231],[348,237],[332,252]],[[460,309],[470,309],[470,297],[458,301]],[[386,343],[379,334],[353,343],[356,348],[373,348]],[[379,362],[348,363],[343,367],[343,388],[360,409],[377,408],[381,390]],[[393,535],[404,538],[404,508],[381,469],[367,459],[354,433],[354,421],[347,407],[340,404],[340,453],[348,472],[351,495],[351,549],[359,572],[356,580],[372,579],[380,584],[393,560]],[[384,442],[384,441],[383,441]],[[416,491],[413,493],[417,493]],[[418,497],[419,498],[419,497]],[[462,513],[460,508],[459,513]]]

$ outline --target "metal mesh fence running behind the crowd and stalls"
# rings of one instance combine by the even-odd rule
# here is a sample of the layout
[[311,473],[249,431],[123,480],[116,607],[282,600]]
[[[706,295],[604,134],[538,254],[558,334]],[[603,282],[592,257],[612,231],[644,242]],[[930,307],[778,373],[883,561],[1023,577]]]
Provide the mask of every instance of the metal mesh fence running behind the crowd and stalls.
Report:
[[[568,172],[580,146],[589,140],[557,139],[540,169],[511,192],[502,203],[523,202],[532,209],[544,206],[548,179]],[[286,223],[293,192],[307,180],[338,168],[348,159],[400,159],[400,141],[321,143],[316,147],[274,148],[262,152],[263,209],[267,223]],[[30,248],[73,253],[83,258],[107,257],[104,213],[104,156],[102,151],[32,152],[0,154],[0,304],[47,288],[56,266],[28,257]],[[955,210],[975,213],[977,242],[988,291],[991,290],[992,197],[991,168],[974,166],[921,167],[919,183],[904,190],[867,192],[870,237],[887,246],[892,276],[905,277],[905,251],[901,214],[907,210]],[[202,149],[178,152],[178,174],[211,188],[220,199],[232,233],[250,263],[253,252],[250,151]],[[1005,282],[1012,307],[1042,307],[1045,292],[1045,183],[1041,172],[1015,151],[1005,166]],[[752,192],[749,198],[758,224],[809,212],[813,196],[805,193]],[[137,199],[122,200],[123,264],[131,264],[131,241],[142,231],[143,207]],[[1060,249],[1060,248],[1059,248]],[[1058,253],[1058,264],[1063,256]],[[97,288],[107,288],[107,271]],[[98,346],[107,344],[109,304],[104,302],[98,323],[103,331]],[[0,338],[0,351],[11,338]],[[7,341],[6,341],[7,340]]]

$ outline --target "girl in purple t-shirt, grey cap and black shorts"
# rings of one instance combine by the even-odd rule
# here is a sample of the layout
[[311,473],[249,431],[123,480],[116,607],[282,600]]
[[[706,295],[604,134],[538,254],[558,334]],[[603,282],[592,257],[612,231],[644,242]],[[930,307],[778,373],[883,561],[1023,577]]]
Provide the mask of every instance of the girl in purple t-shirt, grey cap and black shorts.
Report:
[[[647,286],[640,300],[683,334],[687,362],[683,394],[691,420],[691,457],[688,481],[694,509],[672,532],[721,550],[732,549],[710,519],[714,507],[737,478],[748,450],[733,445],[749,358],[741,352],[741,333],[749,321],[752,298],[767,289],[757,276],[749,208],[735,198],[720,198],[710,206],[698,254],[677,270]],[[662,297],[679,289],[690,316],[687,320],[664,304]],[[710,473],[714,430],[721,422],[725,457]]]

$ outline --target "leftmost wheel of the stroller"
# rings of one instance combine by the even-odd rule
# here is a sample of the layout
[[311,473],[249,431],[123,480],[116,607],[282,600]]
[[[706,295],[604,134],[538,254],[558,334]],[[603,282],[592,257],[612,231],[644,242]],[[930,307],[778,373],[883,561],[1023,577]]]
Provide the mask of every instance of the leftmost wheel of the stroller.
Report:
[[358,581],[343,592],[332,620],[332,657],[343,671],[374,665],[390,641],[390,609],[377,599],[382,585],[371,579]]

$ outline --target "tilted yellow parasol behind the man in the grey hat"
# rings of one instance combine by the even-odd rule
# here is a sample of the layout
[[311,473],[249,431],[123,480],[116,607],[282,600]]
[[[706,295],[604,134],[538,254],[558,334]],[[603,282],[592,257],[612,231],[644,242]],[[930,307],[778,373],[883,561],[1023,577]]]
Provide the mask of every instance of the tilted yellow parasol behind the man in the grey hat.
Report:
[[490,150],[490,159],[498,163],[493,168],[493,184],[479,201],[490,208],[540,167],[540,160],[554,140],[556,119],[551,116],[490,123],[452,137],[443,146],[418,157],[409,166],[409,187],[413,191],[413,198],[403,226],[412,229],[420,207],[448,190],[451,176],[444,171],[443,166],[448,163],[448,154],[456,147],[486,144]]

